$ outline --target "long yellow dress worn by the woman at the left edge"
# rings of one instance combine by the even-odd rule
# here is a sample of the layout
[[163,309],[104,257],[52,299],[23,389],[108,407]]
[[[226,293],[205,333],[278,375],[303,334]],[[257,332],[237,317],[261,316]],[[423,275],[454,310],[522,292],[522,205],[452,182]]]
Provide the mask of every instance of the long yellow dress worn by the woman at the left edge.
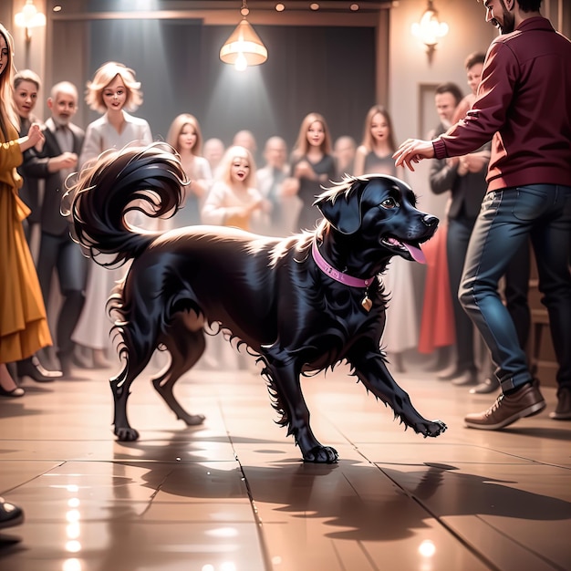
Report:
[[0,130],[0,363],[27,358],[52,344],[36,267],[22,221],[30,213],[18,196],[18,134]]

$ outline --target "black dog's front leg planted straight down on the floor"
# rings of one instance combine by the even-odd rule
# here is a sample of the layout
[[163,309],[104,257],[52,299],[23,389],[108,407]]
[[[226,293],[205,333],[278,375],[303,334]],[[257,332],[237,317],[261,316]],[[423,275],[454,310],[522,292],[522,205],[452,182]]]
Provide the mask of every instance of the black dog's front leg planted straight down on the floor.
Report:
[[317,441],[309,425],[309,410],[299,381],[299,373],[294,364],[281,367],[267,365],[263,375],[268,381],[268,389],[275,410],[282,413],[279,424],[287,425],[287,435],[294,435],[304,462],[337,462],[337,451]]

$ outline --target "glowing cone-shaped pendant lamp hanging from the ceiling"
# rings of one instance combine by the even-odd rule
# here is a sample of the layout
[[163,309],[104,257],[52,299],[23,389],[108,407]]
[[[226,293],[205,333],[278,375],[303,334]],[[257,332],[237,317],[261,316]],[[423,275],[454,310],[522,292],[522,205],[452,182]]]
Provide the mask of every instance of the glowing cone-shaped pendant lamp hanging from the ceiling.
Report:
[[234,32],[220,48],[220,59],[225,64],[232,64],[238,71],[244,71],[248,66],[259,66],[267,59],[267,49],[262,40],[250,26],[246,16],[250,14],[245,0],[240,9],[242,21],[235,27]]

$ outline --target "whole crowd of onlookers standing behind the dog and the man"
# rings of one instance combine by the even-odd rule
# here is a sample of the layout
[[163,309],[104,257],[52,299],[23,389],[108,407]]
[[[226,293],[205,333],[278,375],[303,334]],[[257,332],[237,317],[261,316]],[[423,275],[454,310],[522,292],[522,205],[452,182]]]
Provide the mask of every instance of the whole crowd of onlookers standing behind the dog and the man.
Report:
[[[442,84],[436,89],[435,109],[441,123],[431,136],[447,130],[454,114],[470,106],[482,67],[483,54],[472,54],[466,61],[471,93],[465,98],[454,84]],[[24,231],[34,254],[54,345],[17,359],[10,369],[14,384],[1,385],[2,396],[24,394],[17,386],[18,379],[69,379],[78,369],[106,368],[114,358],[106,302],[125,268],[111,270],[89,260],[70,237],[67,219],[61,213],[67,177],[101,152],[164,139],[178,153],[189,181],[183,188],[182,208],[164,220],[154,221],[143,214],[131,220],[165,232],[201,223],[236,226],[273,236],[310,231],[320,218],[313,202],[329,182],[369,172],[406,180],[404,170],[397,169],[392,159],[396,137],[389,111],[381,105],[364,113],[359,142],[345,134],[333,141],[327,119],[317,112],[308,113],[301,120],[291,149],[277,134],[265,140],[260,153],[263,164],[258,168],[257,141],[250,130],[236,132],[228,145],[218,138],[204,140],[199,119],[186,112],[172,119],[166,136],[151,133],[148,121],[133,115],[142,102],[140,82],[133,69],[119,62],[106,62],[88,81],[85,103],[100,116],[85,130],[73,122],[80,101],[78,87],[72,83],[61,81],[49,89],[47,109],[51,116],[43,123],[34,114],[42,88],[36,73],[20,70],[12,87],[20,135],[26,134],[31,125],[40,125],[45,139],[41,149],[24,151],[18,166],[23,180],[19,195],[30,211],[23,221]],[[422,306],[419,308],[415,301],[418,284],[410,263],[395,258],[384,275],[390,302],[383,344],[391,366],[404,371],[404,356],[410,350],[436,354],[432,369],[442,369],[439,379],[473,385],[472,392],[497,388],[491,362],[477,353],[472,323],[455,295],[462,256],[485,191],[488,160],[489,148],[484,147],[462,160],[433,161],[431,190],[449,193],[450,208],[447,223],[427,248],[429,265]],[[518,274],[526,283],[526,266],[520,268]],[[56,284],[58,290],[54,291]],[[527,293],[523,286],[517,292],[524,297]],[[514,298],[522,301],[522,296]],[[391,318],[392,314],[396,317]],[[524,319],[522,323],[524,344],[529,323]],[[222,345],[212,343],[211,347],[205,366],[244,367]]]

